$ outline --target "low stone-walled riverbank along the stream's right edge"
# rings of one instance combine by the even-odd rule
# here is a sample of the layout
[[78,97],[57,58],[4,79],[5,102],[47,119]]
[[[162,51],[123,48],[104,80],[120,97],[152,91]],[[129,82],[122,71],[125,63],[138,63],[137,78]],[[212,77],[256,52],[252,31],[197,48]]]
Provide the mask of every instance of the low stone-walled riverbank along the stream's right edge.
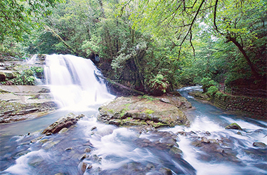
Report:
[[210,102],[210,104],[224,109],[230,113],[266,120],[267,99],[256,97],[234,96],[217,92],[213,97],[203,94],[200,91],[192,91],[189,94],[196,99]]

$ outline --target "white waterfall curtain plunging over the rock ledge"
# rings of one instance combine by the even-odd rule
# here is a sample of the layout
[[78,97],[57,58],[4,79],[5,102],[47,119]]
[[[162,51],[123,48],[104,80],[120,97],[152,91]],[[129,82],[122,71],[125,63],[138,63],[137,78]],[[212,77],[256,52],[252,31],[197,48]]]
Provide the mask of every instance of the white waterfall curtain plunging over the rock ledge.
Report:
[[101,104],[113,96],[95,73],[100,71],[90,59],[74,55],[47,55],[46,84],[61,107],[81,109]]

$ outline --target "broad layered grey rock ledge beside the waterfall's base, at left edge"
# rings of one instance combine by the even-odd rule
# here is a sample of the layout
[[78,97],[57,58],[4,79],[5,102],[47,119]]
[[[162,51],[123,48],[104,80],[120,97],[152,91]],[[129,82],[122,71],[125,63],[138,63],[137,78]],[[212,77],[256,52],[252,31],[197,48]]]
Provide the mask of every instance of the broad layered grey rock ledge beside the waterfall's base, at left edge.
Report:
[[0,85],[0,123],[44,116],[58,109],[46,87]]

